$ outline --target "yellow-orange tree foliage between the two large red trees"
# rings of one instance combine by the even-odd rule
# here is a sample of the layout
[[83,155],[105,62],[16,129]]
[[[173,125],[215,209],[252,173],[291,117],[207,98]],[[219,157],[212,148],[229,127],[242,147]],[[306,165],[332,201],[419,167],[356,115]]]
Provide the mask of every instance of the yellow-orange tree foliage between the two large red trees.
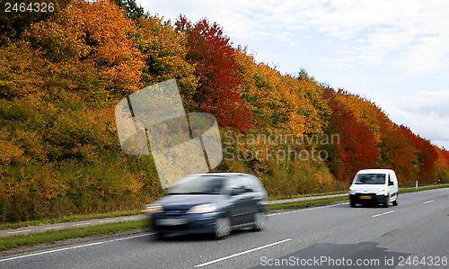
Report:
[[239,87],[245,103],[257,115],[260,128],[272,127],[300,137],[304,133],[322,133],[327,103],[321,98],[321,86],[312,80],[280,75],[239,48],[235,57],[240,65],[243,84]]

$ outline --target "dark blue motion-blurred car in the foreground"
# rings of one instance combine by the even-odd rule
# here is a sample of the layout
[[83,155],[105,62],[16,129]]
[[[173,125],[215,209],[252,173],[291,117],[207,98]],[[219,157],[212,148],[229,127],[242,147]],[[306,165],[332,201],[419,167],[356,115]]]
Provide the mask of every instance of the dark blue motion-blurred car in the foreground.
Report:
[[268,195],[253,175],[187,175],[165,194],[145,209],[156,238],[169,233],[211,233],[225,238],[233,229],[265,227]]

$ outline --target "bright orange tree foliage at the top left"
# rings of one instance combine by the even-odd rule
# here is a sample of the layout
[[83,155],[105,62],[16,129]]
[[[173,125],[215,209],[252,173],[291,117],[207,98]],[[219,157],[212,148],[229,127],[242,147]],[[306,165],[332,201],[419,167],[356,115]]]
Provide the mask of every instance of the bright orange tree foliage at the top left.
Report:
[[140,88],[144,57],[130,35],[136,25],[109,0],[73,2],[27,33],[51,60],[50,70],[80,85],[99,76],[97,87],[135,92]]

